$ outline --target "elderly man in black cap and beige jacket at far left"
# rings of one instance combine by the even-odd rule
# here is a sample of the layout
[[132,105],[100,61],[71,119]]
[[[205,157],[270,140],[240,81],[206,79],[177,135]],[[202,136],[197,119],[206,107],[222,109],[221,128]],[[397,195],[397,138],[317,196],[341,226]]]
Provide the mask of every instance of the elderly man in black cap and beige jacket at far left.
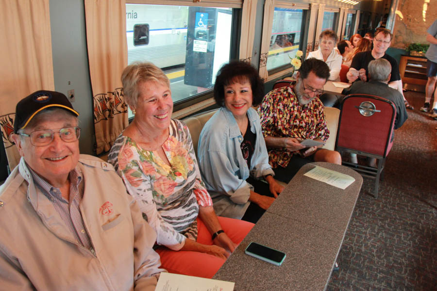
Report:
[[0,187],[2,290],[154,290],[156,233],[111,164],[79,155],[67,97],[17,104],[18,166]]

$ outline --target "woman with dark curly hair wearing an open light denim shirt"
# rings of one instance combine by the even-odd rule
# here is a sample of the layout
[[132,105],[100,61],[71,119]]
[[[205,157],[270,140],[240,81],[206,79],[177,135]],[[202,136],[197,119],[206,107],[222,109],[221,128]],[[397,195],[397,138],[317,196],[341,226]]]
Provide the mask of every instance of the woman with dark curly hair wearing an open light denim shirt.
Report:
[[284,189],[273,178],[259,115],[252,108],[263,95],[263,81],[252,65],[231,62],[219,70],[214,98],[221,108],[202,129],[198,155],[220,216],[256,223]]

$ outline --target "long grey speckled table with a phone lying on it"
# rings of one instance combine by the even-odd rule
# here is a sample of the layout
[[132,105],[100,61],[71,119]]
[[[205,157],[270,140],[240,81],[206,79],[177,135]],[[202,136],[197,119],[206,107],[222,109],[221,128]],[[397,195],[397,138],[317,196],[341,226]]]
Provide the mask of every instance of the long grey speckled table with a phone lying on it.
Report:
[[[355,181],[341,190],[303,176],[314,165]],[[235,291],[325,290],[362,183],[361,175],[342,165],[304,165],[213,278],[235,282]],[[244,254],[250,242],[285,252],[284,263]]]

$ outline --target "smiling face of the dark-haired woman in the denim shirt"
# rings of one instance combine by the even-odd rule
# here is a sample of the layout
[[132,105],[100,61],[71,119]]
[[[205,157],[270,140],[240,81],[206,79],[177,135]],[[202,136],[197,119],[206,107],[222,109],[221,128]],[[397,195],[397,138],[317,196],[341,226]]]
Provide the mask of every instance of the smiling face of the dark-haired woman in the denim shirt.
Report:
[[[241,82],[241,83],[240,83]],[[248,79],[242,79],[224,86],[224,105],[235,119],[246,116],[252,107],[252,86]]]

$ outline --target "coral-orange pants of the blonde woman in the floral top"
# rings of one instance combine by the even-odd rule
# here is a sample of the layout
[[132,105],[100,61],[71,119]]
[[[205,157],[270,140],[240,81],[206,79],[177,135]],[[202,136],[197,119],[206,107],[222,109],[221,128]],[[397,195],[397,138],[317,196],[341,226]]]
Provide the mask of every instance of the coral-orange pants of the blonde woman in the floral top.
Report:
[[[247,221],[220,216],[218,221],[224,232],[235,244],[239,244],[254,226],[254,224]],[[197,226],[198,236],[196,242],[212,245],[211,234],[199,217],[197,218]],[[212,278],[225,262],[224,259],[206,253],[172,251],[164,246],[156,249],[156,252],[161,257],[161,268],[175,274]]]

